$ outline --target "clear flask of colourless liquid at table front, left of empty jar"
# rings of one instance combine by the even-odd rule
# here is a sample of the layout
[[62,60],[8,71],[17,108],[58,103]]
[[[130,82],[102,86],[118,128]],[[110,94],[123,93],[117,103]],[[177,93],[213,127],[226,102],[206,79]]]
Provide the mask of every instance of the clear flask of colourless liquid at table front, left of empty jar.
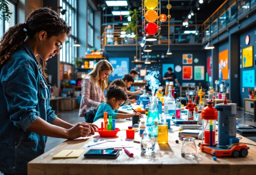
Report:
[[143,153],[154,153],[156,140],[152,131],[152,124],[146,124],[146,129],[141,138],[141,151]]

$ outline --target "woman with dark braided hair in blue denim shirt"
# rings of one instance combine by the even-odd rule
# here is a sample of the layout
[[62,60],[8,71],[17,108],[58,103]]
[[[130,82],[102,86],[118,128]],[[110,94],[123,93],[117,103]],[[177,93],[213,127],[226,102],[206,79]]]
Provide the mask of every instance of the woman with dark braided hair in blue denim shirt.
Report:
[[55,11],[39,8],[0,40],[0,171],[4,174],[27,174],[27,163],[44,153],[47,136],[75,139],[95,133],[96,125],[69,124],[49,106],[46,61],[59,54],[70,30]]

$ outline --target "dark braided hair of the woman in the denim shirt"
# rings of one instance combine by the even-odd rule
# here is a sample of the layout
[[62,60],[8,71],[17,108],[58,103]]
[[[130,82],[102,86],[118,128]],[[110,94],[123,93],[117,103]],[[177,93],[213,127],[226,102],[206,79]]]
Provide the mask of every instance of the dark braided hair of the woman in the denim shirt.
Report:
[[[18,50],[27,38],[34,38],[40,31],[46,31],[47,37],[58,36],[66,33],[69,35],[71,27],[60,18],[58,13],[49,8],[39,8],[31,12],[23,24],[10,27],[0,40],[0,70],[10,59],[13,52]],[[43,60],[42,75],[45,73],[46,61]]]

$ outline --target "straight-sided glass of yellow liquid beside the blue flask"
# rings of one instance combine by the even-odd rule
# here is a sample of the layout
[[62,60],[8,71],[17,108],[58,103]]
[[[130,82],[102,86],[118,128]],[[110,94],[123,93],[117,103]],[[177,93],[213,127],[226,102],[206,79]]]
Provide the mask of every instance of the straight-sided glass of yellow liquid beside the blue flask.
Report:
[[157,122],[157,142],[161,144],[168,143],[168,123]]

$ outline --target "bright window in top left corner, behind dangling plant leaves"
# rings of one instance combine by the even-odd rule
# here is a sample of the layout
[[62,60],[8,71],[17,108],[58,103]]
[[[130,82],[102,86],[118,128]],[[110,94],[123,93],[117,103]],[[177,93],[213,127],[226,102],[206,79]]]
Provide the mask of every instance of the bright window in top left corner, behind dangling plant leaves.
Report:
[[7,3],[8,3],[8,8],[10,10],[10,13],[12,13],[10,15],[10,18],[9,18],[9,21],[7,22],[5,20],[5,18],[1,17],[2,19],[0,19],[0,37],[3,36],[3,34],[12,26],[15,25],[16,21],[15,21],[15,8],[16,8],[16,5],[15,5],[15,2],[13,1],[8,1],[8,0],[5,0]]

